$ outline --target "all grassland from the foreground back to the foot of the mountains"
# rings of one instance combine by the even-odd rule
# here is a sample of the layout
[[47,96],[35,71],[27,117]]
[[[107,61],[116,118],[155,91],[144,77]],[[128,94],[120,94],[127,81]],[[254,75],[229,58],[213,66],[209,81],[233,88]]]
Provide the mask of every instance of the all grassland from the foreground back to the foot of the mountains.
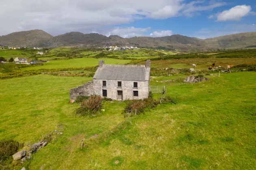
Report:
[[[0,51],[0,57],[22,53],[24,57],[30,56],[26,50],[17,52]],[[54,130],[63,132],[33,154],[30,161],[10,162],[4,168],[255,169],[256,72],[221,73],[220,77],[214,75],[219,72],[205,72],[209,81],[184,83],[182,79],[192,72],[168,75],[170,69],[165,70],[192,68],[196,64],[198,73],[208,70],[213,62],[223,68],[254,65],[254,52],[252,49],[189,54],[153,49],[102,52],[58,48],[38,56],[38,60],[49,60],[43,65],[0,63],[0,75],[20,76],[0,79],[0,140],[24,142],[23,149],[28,149]],[[151,76],[150,85],[167,87],[167,95],[177,99],[177,104],[158,105],[145,114],[124,118],[121,113],[125,102],[104,101],[104,111],[96,116],[75,114],[80,105],[69,102],[69,89],[91,81],[89,74],[93,75],[96,69],[82,68],[97,66],[99,60],[105,64],[145,64],[148,58],[152,60],[152,75],[157,75]],[[46,75],[50,73],[54,74]],[[153,97],[159,100],[161,94]]]

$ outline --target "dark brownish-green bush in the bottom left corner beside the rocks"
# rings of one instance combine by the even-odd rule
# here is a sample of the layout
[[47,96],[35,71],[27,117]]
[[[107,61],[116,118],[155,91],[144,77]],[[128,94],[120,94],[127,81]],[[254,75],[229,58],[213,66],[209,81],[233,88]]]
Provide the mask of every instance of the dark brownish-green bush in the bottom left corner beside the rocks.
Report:
[[22,147],[24,147],[23,143],[14,140],[0,140],[0,164],[5,164],[4,162]]

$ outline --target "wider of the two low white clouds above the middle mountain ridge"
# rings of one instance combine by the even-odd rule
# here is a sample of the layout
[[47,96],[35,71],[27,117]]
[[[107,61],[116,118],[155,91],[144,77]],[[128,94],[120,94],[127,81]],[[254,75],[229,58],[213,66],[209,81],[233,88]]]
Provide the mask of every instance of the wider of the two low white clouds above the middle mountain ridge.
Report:
[[123,38],[130,38],[134,36],[145,36],[146,32],[150,30],[150,27],[148,28],[135,28],[135,27],[117,27],[113,28],[111,30],[105,30],[100,32],[100,34],[104,34],[106,36],[110,35],[118,35]]

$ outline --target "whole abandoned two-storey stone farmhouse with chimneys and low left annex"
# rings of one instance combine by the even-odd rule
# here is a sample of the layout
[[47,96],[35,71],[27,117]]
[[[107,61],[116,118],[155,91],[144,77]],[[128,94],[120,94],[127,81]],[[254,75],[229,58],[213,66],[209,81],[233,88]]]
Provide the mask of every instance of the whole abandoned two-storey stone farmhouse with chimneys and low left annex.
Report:
[[93,81],[70,89],[70,101],[81,95],[99,95],[113,100],[148,98],[150,63],[147,60],[146,65],[113,65],[100,60]]

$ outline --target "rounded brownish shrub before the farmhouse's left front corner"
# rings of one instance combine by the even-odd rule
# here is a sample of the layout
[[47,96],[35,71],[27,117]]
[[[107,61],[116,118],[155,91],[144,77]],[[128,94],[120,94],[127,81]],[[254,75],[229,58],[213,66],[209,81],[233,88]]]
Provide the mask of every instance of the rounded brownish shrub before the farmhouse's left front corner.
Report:
[[80,108],[77,108],[76,114],[85,116],[93,115],[102,108],[102,97],[101,96],[90,96],[87,100],[81,103]]

